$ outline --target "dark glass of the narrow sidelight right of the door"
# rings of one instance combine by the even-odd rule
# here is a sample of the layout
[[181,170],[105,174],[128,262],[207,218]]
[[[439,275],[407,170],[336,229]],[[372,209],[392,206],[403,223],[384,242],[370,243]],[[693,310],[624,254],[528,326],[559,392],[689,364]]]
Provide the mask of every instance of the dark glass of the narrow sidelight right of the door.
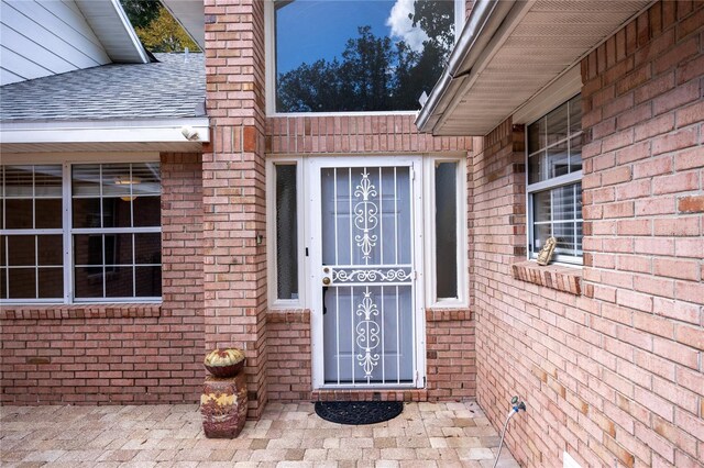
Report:
[[458,163],[436,164],[437,298],[458,298]]

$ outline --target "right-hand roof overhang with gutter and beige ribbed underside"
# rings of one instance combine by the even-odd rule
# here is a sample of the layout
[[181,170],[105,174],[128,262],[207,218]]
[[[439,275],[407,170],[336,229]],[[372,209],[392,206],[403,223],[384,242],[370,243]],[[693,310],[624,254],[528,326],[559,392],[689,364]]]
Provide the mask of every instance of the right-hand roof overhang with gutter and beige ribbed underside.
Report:
[[477,0],[417,127],[487,134],[651,3]]

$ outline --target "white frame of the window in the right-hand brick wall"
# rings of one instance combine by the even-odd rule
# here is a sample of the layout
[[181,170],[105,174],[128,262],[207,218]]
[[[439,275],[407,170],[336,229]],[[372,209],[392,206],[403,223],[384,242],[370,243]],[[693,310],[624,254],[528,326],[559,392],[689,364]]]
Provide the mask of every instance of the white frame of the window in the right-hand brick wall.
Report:
[[[562,176],[558,176],[558,177],[553,177],[551,179],[548,180],[542,180],[539,182],[535,182],[535,183],[529,183],[529,176],[530,176],[530,161],[529,161],[529,146],[528,146],[528,136],[529,136],[529,132],[528,132],[528,126],[538,122],[540,119],[543,119],[546,115],[548,115],[550,112],[552,112],[554,109],[558,109],[559,107],[566,104],[572,98],[576,97],[580,92],[576,91],[574,92],[573,96],[570,96],[568,99],[562,100],[561,102],[557,103],[556,105],[553,105],[552,108],[550,108],[547,112],[544,112],[544,114],[540,115],[539,118],[535,119],[532,122],[530,122],[529,124],[526,124],[525,129],[525,148],[526,148],[526,237],[527,237],[527,257],[528,259],[536,259],[538,258],[538,253],[532,252],[532,245],[535,242],[534,238],[534,203],[532,203],[532,199],[534,199],[534,194],[537,192],[541,192],[544,190],[551,190],[551,189],[557,189],[559,187],[564,187],[564,186],[571,186],[578,182],[582,181],[582,170],[578,170],[574,172],[570,172],[570,174],[565,174]],[[568,151],[570,148],[570,141],[572,138],[574,138],[575,136],[581,136],[583,134],[583,131],[581,130],[578,133],[574,134],[570,134],[569,133],[569,113],[568,113],[568,136],[564,140],[561,140],[559,142],[552,143],[550,145],[547,145],[543,148],[540,148],[540,151],[546,151],[549,149],[553,146],[557,146],[561,143],[565,143],[568,144]],[[550,201],[550,204],[552,207],[552,200]],[[552,208],[550,210],[550,212],[552,213]],[[551,214],[551,219],[552,219],[552,214]],[[582,223],[584,223],[583,219],[582,219]],[[552,222],[551,222],[552,225]],[[582,236],[584,236],[584,234],[582,234]],[[576,246],[575,246],[576,247]],[[582,253],[584,252],[584,247],[582,247]],[[574,256],[574,255],[564,255],[564,254],[558,254],[556,252],[554,256],[552,257],[553,260],[558,264],[563,264],[566,266],[582,266],[583,263],[583,258],[584,258],[584,254],[582,254],[582,256]]]

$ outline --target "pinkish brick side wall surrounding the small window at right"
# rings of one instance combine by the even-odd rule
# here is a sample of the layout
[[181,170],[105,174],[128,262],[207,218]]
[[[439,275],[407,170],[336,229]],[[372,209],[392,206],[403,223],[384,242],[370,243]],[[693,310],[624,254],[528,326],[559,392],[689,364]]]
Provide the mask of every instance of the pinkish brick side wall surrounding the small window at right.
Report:
[[582,466],[702,466],[702,70],[704,4],[690,1],[653,4],[583,60],[581,291],[540,286],[522,263],[512,277],[521,129],[477,148],[477,395],[497,427],[513,394],[526,400],[507,434],[524,465],[561,466],[568,450]]

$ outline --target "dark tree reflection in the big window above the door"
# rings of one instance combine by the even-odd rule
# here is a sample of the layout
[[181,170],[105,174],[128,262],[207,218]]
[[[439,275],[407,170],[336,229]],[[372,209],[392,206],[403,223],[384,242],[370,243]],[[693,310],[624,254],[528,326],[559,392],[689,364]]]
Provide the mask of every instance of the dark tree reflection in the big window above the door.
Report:
[[451,1],[416,0],[414,27],[428,40],[420,52],[404,41],[377,37],[370,26],[346,42],[341,60],[319,59],[279,74],[279,112],[393,111],[419,108],[422,91],[430,92],[447,65],[454,44]]

